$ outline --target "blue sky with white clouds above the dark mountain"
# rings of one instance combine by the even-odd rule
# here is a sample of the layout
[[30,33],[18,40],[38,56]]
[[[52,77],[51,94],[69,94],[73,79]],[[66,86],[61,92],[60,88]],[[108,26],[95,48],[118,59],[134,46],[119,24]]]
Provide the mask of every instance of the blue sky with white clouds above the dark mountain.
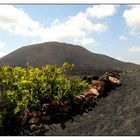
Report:
[[0,57],[48,41],[140,64],[140,5],[0,5]]

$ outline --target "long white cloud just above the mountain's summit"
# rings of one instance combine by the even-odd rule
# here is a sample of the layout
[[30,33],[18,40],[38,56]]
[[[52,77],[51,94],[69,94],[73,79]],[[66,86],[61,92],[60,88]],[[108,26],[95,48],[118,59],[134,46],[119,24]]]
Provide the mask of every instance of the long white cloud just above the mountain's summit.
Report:
[[101,33],[107,30],[107,26],[101,23],[93,24],[84,13],[78,13],[65,22],[46,27],[40,30],[41,38],[47,41],[64,40],[67,38],[80,39],[86,37],[92,31]]

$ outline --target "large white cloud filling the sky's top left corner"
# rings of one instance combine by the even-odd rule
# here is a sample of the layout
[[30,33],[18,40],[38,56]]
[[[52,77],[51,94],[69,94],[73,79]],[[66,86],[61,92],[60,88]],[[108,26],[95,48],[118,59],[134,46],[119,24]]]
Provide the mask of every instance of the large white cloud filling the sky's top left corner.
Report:
[[12,5],[0,5],[0,28],[23,36],[35,36],[39,22],[32,20],[22,9]]

